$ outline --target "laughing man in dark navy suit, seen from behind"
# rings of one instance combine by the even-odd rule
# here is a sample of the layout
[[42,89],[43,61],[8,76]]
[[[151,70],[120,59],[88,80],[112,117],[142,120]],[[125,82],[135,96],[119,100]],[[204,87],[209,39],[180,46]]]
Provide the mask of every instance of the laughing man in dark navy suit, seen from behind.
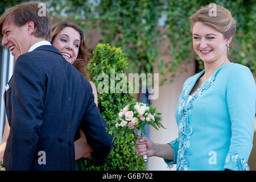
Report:
[[0,18],[2,46],[15,57],[4,94],[10,125],[7,170],[73,170],[80,127],[101,164],[113,148],[89,82],[48,42],[51,19],[38,3],[17,5]]

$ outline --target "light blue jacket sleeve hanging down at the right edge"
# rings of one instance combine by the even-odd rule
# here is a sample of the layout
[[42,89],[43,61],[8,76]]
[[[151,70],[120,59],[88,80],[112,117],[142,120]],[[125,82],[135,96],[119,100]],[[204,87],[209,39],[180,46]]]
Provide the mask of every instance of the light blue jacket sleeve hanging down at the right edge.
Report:
[[249,170],[247,160],[253,147],[256,86],[249,68],[233,70],[226,88],[231,138],[224,169]]

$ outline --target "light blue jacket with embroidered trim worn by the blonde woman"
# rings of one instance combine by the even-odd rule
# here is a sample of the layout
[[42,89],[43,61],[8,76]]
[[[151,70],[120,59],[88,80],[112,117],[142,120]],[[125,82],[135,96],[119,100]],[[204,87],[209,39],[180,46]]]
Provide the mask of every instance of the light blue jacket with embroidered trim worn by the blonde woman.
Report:
[[176,108],[179,137],[169,144],[177,170],[249,170],[256,86],[249,68],[222,65],[187,102],[202,71],[189,77]]

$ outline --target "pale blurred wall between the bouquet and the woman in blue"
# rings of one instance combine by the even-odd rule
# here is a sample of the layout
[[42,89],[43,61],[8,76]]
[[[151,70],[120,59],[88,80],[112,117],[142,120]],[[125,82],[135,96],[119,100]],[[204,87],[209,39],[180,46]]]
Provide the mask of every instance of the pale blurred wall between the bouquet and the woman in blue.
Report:
[[[170,57],[163,57],[164,60],[170,60]],[[174,79],[174,82],[166,82],[163,86],[159,87],[159,97],[156,100],[151,100],[151,105],[158,108],[158,112],[162,113],[163,125],[165,129],[155,130],[150,127],[149,138],[156,143],[168,143],[177,138],[178,130],[175,119],[175,110],[184,81],[195,75],[195,63],[188,65],[181,65],[186,67],[188,72],[179,73]],[[156,67],[157,68],[157,67]],[[155,69],[157,70],[157,69]],[[159,79],[160,80],[160,79]],[[148,158],[147,170],[149,171],[168,171],[167,164],[164,163],[162,158],[151,157]],[[176,170],[176,166],[171,170]]]

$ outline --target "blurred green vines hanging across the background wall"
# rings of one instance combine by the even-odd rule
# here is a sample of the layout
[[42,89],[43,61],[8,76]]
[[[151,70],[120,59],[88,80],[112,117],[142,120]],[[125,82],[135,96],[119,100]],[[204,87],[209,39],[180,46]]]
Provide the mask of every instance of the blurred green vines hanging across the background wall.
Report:
[[[3,7],[11,7],[22,0],[0,2]],[[203,62],[192,48],[189,16],[196,13],[200,6],[217,3],[228,9],[237,20],[237,32],[230,48],[230,60],[246,65],[256,75],[255,61],[255,24],[256,1],[254,0],[47,0],[45,2],[52,16],[61,20],[72,19],[85,31],[88,26],[97,27],[104,36],[103,43],[121,47],[128,58],[131,73],[151,73],[157,63],[158,72],[167,81],[168,73],[175,76],[183,72],[180,64],[196,60],[200,69]],[[166,17],[163,28],[159,29],[159,19]],[[59,20],[59,19],[58,19]],[[167,40],[168,51],[160,52],[160,43]],[[163,61],[161,56],[174,57]],[[172,78],[171,80],[172,81]]]

